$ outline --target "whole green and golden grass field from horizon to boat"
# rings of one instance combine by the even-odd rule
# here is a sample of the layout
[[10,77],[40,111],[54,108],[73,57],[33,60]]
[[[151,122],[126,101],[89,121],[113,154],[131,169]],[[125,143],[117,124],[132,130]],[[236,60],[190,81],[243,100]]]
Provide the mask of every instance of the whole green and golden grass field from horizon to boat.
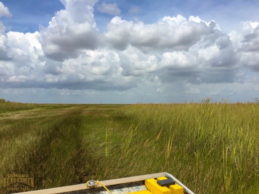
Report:
[[0,187],[34,189],[166,171],[195,193],[257,193],[259,104],[0,102]]

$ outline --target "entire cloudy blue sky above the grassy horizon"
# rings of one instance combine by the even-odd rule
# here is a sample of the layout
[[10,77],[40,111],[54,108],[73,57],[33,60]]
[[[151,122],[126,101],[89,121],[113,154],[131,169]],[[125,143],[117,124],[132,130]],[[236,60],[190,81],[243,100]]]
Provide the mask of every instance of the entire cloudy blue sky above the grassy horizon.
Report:
[[257,0],[0,0],[0,98],[252,102]]

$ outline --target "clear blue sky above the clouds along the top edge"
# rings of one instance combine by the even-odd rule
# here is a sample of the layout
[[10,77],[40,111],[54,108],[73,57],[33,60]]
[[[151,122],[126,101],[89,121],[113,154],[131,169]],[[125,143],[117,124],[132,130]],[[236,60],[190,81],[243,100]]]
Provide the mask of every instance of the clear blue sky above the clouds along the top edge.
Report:
[[[189,17],[199,16],[210,21],[215,20],[226,33],[233,28],[238,28],[242,21],[258,21],[259,2],[253,1],[197,1],[197,0],[114,0],[99,1],[95,7],[101,3],[116,3],[121,13],[119,16],[126,20],[138,18],[145,23],[154,23],[164,16],[176,16],[178,14]],[[2,3],[11,10],[12,19],[3,18],[2,22],[13,31],[35,32],[39,31],[39,25],[47,26],[55,13],[64,9],[64,5],[59,0],[2,0]],[[136,9],[135,13],[129,10]],[[100,29],[105,30],[106,24],[112,15],[102,14],[95,11],[95,20]],[[230,24],[232,23],[232,24]]]

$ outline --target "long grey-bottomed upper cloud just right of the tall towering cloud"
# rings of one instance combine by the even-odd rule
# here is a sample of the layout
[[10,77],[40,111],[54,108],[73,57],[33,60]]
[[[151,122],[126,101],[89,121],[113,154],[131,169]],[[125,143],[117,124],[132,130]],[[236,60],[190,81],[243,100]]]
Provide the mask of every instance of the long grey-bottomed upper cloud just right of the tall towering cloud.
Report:
[[[107,26],[104,40],[115,49],[123,50],[128,45],[144,52],[150,50],[187,50],[203,36],[211,39],[222,34],[214,21],[206,23],[198,17],[164,17],[154,24],[134,23],[114,17]],[[212,40],[213,41],[213,40]]]

